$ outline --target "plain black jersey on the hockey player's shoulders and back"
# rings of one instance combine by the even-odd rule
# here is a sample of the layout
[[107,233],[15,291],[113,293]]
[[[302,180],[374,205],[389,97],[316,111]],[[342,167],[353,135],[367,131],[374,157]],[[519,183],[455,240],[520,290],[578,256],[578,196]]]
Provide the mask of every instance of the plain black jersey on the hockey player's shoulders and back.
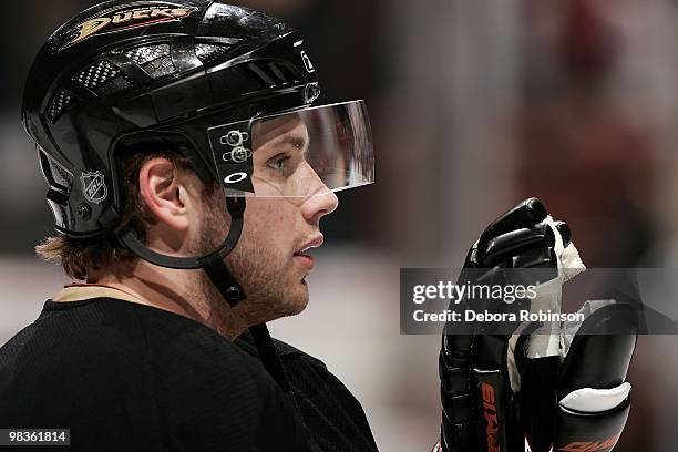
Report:
[[114,298],[48,300],[0,348],[0,429],[69,428],[72,451],[377,449],[320,361],[276,341],[290,401],[248,339]]

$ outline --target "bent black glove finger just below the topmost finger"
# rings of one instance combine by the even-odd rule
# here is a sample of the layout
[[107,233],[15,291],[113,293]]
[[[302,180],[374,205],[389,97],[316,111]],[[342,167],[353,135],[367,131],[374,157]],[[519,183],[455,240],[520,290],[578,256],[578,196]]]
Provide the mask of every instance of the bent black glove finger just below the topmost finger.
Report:
[[514,229],[487,242],[482,261],[485,267],[501,264],[508,266],[510,259],[514,256],[533,248],[553,247],[554,245],[555,235],[548,225]]

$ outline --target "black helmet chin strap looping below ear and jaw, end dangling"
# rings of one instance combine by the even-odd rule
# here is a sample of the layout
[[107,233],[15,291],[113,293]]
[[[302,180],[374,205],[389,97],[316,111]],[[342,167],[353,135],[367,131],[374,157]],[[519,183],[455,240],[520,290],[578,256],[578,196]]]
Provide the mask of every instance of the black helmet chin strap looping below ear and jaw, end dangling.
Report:
[[[202,268],[207,274],[207,277],[215,285],[215,287],[222,294],[222,297],[230,305],[235,307],[238,302],[245,300],[247,296],[243,287],[236,281],[235,277],[228,269],[228,266],[224,261],[224,258],[233,251],[240,234],[243,233],[243,216],[245,213],[245,197],[226,197],[226,208],[230,214],[230,229],[228,235],[214,251],[198,257],[177,257],[167,256],[160,253],[153,251],[141,243],[134,230],[127,230],[119,240],[130,248],[136,256],[142,259],[166,268],[176,269],[197,269]],[[280,358],[276,352],[276,348],[268,332],[266,323],[254,325],[249,327],[249,332],[257,346],[259,352],[259,359],[261,363],[276,380],[278,386],[285,391],[290,393],[291,389],[285,369],[280,362]]]

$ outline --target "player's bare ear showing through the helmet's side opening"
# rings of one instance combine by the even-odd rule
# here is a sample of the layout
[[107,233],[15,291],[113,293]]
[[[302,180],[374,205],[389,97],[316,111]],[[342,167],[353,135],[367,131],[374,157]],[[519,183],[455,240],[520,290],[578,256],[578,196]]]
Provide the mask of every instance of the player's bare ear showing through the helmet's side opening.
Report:
[[175,230],[186,230],[192,209],[192,189],[185,172],[163,157],[146,161],[138,172],[142,202],[156,220]]

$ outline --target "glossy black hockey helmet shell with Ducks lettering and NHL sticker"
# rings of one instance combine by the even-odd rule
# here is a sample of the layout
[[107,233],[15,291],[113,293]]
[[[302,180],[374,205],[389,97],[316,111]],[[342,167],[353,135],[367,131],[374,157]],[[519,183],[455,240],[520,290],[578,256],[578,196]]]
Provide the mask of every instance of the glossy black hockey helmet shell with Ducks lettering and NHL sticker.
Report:
[[208,126],[318,95],[300,43],[273,18],[212,1],[111,1],[68,21],[34,60],[22,113],[56,229],[84,237],[115,222],[123,138],[188,141],[196,170],[216,177]]

